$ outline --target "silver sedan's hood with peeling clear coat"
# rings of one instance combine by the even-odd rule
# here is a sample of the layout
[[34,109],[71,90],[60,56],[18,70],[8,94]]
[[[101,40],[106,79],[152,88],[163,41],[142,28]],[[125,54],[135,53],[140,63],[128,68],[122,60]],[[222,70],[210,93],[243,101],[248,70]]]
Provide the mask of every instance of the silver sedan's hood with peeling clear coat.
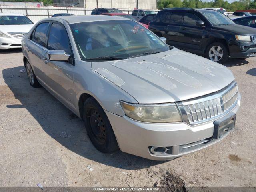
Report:
[[92,69],[140,104],[196,98],[234,80],[225,66],[176,48],[126,60],[92,62]]

